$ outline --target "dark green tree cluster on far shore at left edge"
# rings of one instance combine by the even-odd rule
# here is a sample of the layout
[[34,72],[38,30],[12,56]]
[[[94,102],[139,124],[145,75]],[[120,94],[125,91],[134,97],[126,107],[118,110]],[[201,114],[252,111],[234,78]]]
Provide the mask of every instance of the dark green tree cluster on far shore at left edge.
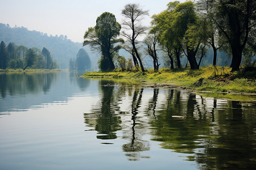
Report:
[[0,69],[56,69],[57,62],[53,61],[51,52],[47,48],[36,47],[28,49],[23,45],[10,42],[0,44]]

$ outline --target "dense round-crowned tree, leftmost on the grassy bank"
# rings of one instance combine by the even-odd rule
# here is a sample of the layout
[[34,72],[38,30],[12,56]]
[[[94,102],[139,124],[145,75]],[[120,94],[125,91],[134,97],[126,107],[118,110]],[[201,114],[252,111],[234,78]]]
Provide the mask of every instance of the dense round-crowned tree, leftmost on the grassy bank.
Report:
[[88,28],[85,32],[83,45],[90,45],[92,50],[101,52],[99,67],[102,71],[115,69],[113,57],[121,48],[116,44],[123,42],[122,39],[117,39],[120,29],[121,25],[115,19],[115,15],[104,12],[98,16],[96,26]]

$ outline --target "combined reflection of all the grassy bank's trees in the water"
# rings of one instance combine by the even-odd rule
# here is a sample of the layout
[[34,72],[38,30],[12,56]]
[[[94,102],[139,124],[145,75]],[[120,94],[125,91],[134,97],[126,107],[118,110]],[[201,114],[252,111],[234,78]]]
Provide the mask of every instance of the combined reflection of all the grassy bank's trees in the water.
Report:
[[85,123],[98,132],[98,139],[118,138],[121,131],[128,160],[150,158],[144,152],[150,151],[150,141],[144,137],[151,134],[162,148],[189,154],[184,159],[199,169],[256,165],[255,101],[205,98],[174,89],[145,92],[104,80],[100,89],[101,100],[84,114]]

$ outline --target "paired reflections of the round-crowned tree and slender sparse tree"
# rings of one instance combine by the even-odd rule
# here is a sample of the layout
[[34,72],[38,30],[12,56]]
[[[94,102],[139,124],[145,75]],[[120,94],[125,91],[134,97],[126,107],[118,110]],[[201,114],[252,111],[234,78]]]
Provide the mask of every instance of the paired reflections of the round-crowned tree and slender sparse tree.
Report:
[[[122,150],[126,152],[127,159],[149,158],[149,156],[141,154],[142,151],[150,150],[149,141],[142,139],[142,136],[146,134],[146,131],[144,131],[146,127],[143,127],[143,121],[140,120],[142,116],[138,116],[143,88],[135,88],[133,91],[131,87],[116,86],[114,82],[101,80],[100,89],[102,99],[94,106],[91,113],[84,113],[86,125],[97,131],[98,139],[104,140],[117,138],[117,131],[122,130],[122,138],[128,141],[122,145]],[[127,105],[130,110],[128,112],[121,111],[119,107],[123,97],[127,95],[126,92],[128,96],[132,97],[131,105]],[[110,144],[110,142],[101,143]]]

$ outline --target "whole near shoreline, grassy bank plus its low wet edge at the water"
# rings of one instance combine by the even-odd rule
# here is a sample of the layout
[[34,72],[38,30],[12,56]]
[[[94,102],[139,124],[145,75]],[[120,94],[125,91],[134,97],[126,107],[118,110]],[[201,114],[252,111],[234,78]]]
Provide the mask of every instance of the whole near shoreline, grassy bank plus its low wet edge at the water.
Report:
[[159,69],[141,71],[88,72],[85,78],[113,80],[121,84],[134,84],[144,88],[175,88],[196,92],[209,97],[256,100],[255,71],[230,73],[229,67],[201,67],[200,70]]

